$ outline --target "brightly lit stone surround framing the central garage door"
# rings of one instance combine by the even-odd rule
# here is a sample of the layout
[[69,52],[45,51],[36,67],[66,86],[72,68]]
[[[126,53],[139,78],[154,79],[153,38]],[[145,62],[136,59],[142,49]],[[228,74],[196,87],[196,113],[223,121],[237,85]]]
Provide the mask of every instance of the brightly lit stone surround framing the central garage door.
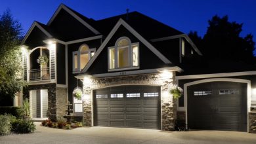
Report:
[[85,98],[83,101],[83,118],[86,126],[91,126],[92,122],[92,90],[97,88],[105,88],[109,86],[119,86],[121,84],[126,85],[156,85],[161,86],[161,126],[162,130],[174,130],[174,120],[176,118],[176,107],[173,103],[173,98],[169,94],[167,98],[163,94],[167,94],[167,90],[173,85],[173,75],[175,73],[166,74],[154,73],[144,75],[131,75],[121,77],[108,77],[98,79],[83,79],[83,94]]

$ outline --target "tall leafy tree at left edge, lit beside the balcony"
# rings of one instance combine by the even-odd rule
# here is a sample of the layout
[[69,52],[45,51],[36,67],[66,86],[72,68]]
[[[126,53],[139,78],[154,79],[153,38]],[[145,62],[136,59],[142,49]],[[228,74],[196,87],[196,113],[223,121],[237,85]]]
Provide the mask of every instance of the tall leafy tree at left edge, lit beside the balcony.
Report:
[[0,15],[0,101],[14,97],[24,85],[18,75],[22,69],[21,39],[20,23],[13,19],[10,10],[6,10]]

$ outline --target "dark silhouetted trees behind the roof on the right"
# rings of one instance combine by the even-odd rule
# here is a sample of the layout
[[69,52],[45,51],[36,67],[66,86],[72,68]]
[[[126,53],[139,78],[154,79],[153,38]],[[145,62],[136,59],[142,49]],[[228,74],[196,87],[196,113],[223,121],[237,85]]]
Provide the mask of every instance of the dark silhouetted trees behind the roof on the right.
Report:
[[213,16],[203,38],[190,31],[188,36],[200,48],[205,58],[228,59],[236,62],[255,63],[253,35],[241,37],[243,24],[228,22],[228,16]]

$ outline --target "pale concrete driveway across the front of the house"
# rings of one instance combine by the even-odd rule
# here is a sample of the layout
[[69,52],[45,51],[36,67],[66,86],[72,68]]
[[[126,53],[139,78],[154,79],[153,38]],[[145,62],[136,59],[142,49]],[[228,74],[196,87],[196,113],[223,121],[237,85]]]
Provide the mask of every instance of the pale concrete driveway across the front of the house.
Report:
[[0,143],[256,143],[256,134],[246,132],[188,131],[163,132],[133,128],[83,127],[60,130],[39,126],[33,134],[0,136]]

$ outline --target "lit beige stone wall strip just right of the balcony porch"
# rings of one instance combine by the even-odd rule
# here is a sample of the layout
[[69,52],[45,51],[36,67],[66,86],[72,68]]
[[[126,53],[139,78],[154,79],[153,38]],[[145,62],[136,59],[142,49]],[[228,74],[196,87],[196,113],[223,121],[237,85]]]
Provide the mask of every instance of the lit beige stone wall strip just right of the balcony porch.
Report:
[[56,117],[63,117],[66,115],[67,109],[67,88],[56,87]]

